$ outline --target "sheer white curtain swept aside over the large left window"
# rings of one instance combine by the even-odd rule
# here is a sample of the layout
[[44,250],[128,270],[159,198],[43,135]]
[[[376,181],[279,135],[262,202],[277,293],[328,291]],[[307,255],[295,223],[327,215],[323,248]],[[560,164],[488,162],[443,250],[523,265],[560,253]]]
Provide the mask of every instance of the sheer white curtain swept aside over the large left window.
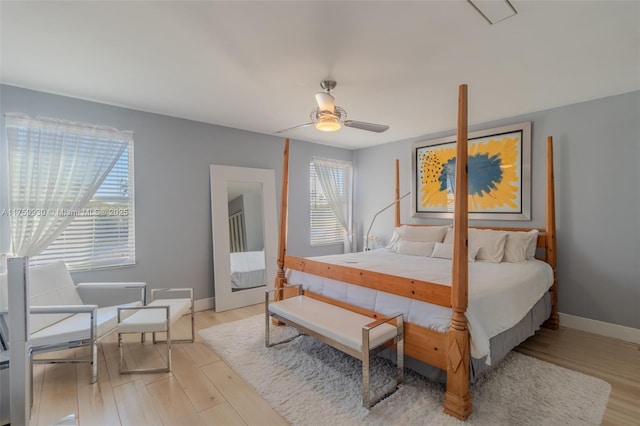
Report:
[[5,114],[5,128],[11,248],[34,256],[85,207],[133,132],[22,114]]

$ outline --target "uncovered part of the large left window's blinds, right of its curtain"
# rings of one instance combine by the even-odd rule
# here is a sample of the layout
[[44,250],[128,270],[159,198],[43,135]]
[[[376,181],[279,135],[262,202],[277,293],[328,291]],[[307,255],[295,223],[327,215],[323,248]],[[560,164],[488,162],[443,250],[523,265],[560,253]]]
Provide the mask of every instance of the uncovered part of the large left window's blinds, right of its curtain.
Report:
[[134,264],[133,141],[84,208],[56,214],[74,218],[31,265],[63,260],[70,270],[88,270]]

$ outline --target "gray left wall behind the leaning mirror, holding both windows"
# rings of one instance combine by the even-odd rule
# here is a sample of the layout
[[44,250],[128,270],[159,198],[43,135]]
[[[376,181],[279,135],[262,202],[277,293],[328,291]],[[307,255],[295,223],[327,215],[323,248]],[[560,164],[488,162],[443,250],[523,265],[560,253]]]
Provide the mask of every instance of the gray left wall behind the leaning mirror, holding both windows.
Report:
[[[6,85],[0,86],[0,109],[2,114],[21,112],[135,132],[136,265],[74,273],[76,282],[139,280],[150,288],[194,287],[196,299],[212,297],[209,165],[274,169],[276,182],[282,179],[284,142],[278,137]],[[2,141],[4,150],[4,130]],[[336,246],[309,245],[309,161],[314,155],[351,160],[353,152],[300,141],[291,142],[290,152],[295,179],[289,203],[296,217],[289,220],[288,251],[300,256],[335,253]],[[279,190],[277,197],[279,206]],[[6,222],[0,224],[4,232]],[[7,249],[0,247],[0,252]]]

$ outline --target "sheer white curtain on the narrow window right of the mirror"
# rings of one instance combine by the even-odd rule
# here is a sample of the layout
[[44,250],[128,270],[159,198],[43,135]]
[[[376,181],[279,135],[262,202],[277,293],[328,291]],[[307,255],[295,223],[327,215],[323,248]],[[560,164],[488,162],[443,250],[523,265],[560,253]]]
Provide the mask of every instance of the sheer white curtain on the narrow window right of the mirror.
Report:
[[331,210],[344,229],[344,252],[352,251],[351,200],[353,165],[347,161],[313,158],[316,176]]

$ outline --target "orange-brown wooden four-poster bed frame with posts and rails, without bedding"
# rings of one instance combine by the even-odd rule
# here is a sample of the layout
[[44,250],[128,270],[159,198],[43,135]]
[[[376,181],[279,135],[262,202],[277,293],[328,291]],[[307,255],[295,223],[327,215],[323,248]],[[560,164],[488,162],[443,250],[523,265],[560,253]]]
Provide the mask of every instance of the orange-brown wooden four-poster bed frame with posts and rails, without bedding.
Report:
[[[282,205],[280,209],[280,235],[278,241],[278,270],[275,288],[287,284],[285,268],[307,272],[344,281],[374,290],[384,291],[452,309],[451,327],[446,333],[437,332],[409,322],[404,323],[405,353],[417,360],[446,370],[447,388],[444,399],[444,411],[459,419],[466,419],[471,414],[471,395],[469,393],[470,345],[469,330],[465,312],[468,305],[468,211],[467,211],[467,86],[459,87],[458,98],[458,143],[456,161],[456,197],[454,225],[453,274],[451,287],[412,280],[394,275],[366,271],[345,266],[329,265],[286,254],[287,240],[287,198],[289,185],[289,140],[285,140]],[[396,160],[395,199],[399,200],[399,166]],[[555,229],[555,194],[553,181],[553,140],[547,138],[547,200],[545,228],[513,228],[482,227],[504,231],[527,231],[538,229],[538,248],[544,248],[544,257],[554,269],[554,283],[549,289],[551,296],[551,315],[544,323],[545,327],[557,329],[559,326],[557,310],[557,287],[555,278],[556,266],[556,229]],[[395,206],[395,224],[400,226],[400,203]],[[417,225],[428,226],[428,225]],[[276,291],[276,300],[285,297],[283,291]],[[305,291],[305,295],[331,303],[354,312],[378,318],[379,314],[362,309],[342,301],[330,299],[319,294]]]

